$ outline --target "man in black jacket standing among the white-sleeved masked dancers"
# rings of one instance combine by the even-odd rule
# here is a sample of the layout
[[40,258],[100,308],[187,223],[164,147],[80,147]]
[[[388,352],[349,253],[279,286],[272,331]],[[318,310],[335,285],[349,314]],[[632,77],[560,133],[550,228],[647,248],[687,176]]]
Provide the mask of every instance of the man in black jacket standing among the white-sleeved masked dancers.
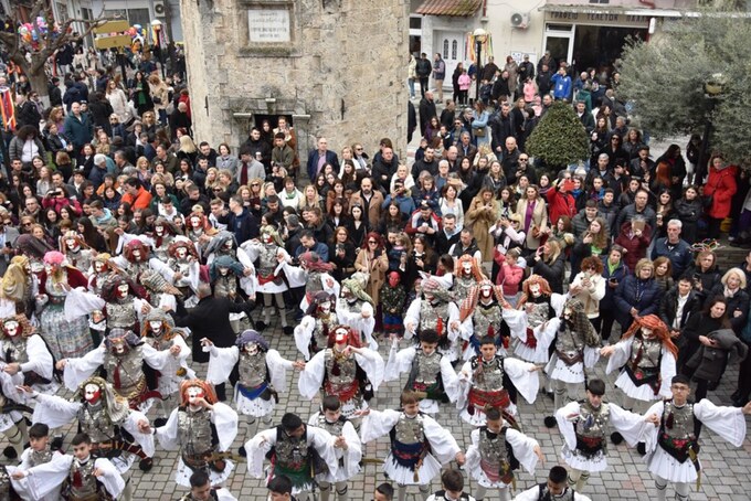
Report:
[[[178,301],[174,324],[188,327],[192,331],[193,362],[208,363],[209,353],[203,351],[201,340],[204,338],[209,339],[216,348],[234,347],[237,335],[232,330],[230,313],[245,312],[250,318],[255,298],[250,298],[247,302],[234,302],[229,298],[214,297],[211,294],[211,285],[209,284],[200,284],[197,295],[199,298],[198,305],[190,311],[186,310],[182,301]],[[233,374],[230,375],[230,382],[234,383],[234,381],[237,381],[236,367]],[[224,383],[216,385],[215,388],[219,399],[225,401]]]

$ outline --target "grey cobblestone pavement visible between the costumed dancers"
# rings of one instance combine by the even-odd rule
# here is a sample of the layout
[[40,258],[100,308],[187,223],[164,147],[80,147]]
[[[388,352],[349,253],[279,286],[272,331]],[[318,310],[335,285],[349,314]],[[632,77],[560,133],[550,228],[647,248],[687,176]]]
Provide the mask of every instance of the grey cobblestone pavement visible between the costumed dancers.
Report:
[[[255,312],[254,312],[255,313]],[[276,321],[277,319],[275,319]],[[275,324],[265,331],[272,348],[277,349],[283,356],[294,360],[298,358],[293,338],[285,337],[282,329]],[[387,345],[381,343],[381,354],[387,356]],[[604,362],[601,360],[596,366],[595,374],[604,376]],[[205,374],[205,366],[195,367],[199,374]],[[720,387],[716,392],[709,393],[709,398],[720,405],[730,402],[730,393],[734,391],[738,366],[729,367]],[[290,373],[292,380],[289,390],[286,394],[279,395],[279,405],[274,414],[274,425],[278,424],[282,415],[286,412],[294,412],[305,420],[316,412],[319,399],[306,402],[300,398],[297,391],[297,373]],[[404,384],[406,375],[402,380],[383,384],[378,395],[371,401],[371,406],[377,409],[395,408],[399,402],[399,394]],[[606,377],[609,382],[609,393],[606,397],[613,402],[620,399],[620,392],[611,391],[613,377]],[[228,391],[228,393],[230,393]],[[70,394],[68,394],[70,396]],[[581,395],[583,398],[583,393]],[[156,406],[155,406],[156,407]],[[546,462],[539,466],[535,477],[526,472],[519,473],[518,489],[531,487],[536,482],[541,482],[551,466],[562,463],[559,459],[562,438],[557,429],[548,429],[542,424],[542,418],[553,412],[552,399],[540,395],[535,405],[529,405],[520,399],[519,414],[525,431],[536,438],[542,448]],[[157,416],[156,409],[151,409],[149,417],[154,420]],[[459,446],[465,449],[469,441],[472,429],[464,424],[453,407],[444,406],[437,415],[438,423],[446,427],[456,438]],[[73,434],[73,426],[67,430],[66,445],[70,444]],[[237,448],[255,433],[255,425],[248,425],[246,418],[241,416],[240,431],[233,444],[233,449]],[[717,435],[709,430],[702,433],[701,459],[704,465],[702,486],[696,492],[691,486],[691,500],[732,500],[741,501],[751,499],[744,486],[744,480],[751,476],[751,441],[745,440],[743,447],[736,449],[721,440]],[[364,450],[368,458],[384,458],[388,451],[389,440],[383,437],[377,443],[371,443]],[[466,450],[466,449],[465,449]],[[642,457],[635,449],[628,449],[625,444],[610,447],[609,452],[610,469],[605,472],[593,475],[584,493],[591,495],[594,501],[604,500],[633,500],[633,499],[655,499],[656,491],[654,482],[643,463]],[[173,470],[177,465],[177,454],[166,452],[157,447],[155,467],[148,473],[144,473],[135,468],[131,472],[131,481],[135,486],[136,500],[176,500],[184,494],[186,490],[178,487],[173,481]],[[350,482],[350,500],[370,500],[374,487],[385,479],[379,465],[367,463],[364,471]],[[246,476],[245,465],[241,463],[230,477],[225,484],[232,493],[240,500],[261,500],[266,498],[266,489],[262,480],[256,480]],[[434,480],[435,490],[440,489],[440,480]],[[469,484],[469,492],[474,486]],[[668,488],[669,489],[669,488]],[[420,499],[416,489],[410,490],[414,499]],[[668,499],[673,499],[673,491],[668,491]],[[410,497],[408,495],[408,499]],[[497,499],[497,495],[487,499]]]

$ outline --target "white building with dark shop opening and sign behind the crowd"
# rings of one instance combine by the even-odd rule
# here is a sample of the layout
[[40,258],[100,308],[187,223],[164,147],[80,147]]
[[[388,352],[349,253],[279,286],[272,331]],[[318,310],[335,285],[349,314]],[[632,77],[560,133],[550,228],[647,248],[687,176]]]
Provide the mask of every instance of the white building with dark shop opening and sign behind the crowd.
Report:
[[[412,0],[411,52],[435,54],[446,62],[445,87],[462,61],[474,53],[469,35],[484,28],[491,54],[503,67],[508,55],[523,54],[537,64],[546,51],[579,71],[609,70],[631,38],[648,40],[665,22],[679,18],[696,0]],[[484,54],[483,60],[485,58]],[[431,56],[432,60],[432,56]]]

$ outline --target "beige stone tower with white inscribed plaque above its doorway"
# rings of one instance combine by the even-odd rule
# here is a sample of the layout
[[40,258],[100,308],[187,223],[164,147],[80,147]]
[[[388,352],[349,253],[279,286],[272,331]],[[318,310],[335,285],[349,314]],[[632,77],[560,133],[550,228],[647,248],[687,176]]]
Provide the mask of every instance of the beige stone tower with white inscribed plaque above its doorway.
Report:
[[303,163],[317,136],[337,152],[353,141],[372,152],[390,137],[406,154],[409,2],[180,6],[198,139],[236,147],[260,117],[285,115],[297,129]]

